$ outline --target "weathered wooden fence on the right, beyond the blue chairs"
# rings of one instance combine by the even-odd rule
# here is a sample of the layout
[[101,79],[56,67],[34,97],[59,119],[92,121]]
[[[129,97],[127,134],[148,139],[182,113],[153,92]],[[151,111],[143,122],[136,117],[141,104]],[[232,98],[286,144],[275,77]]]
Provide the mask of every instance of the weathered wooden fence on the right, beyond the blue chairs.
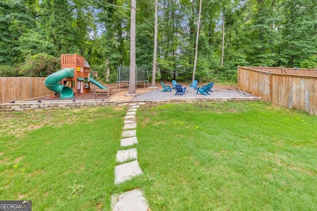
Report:
[[317,69],[238,67],[238,87],[274,104],[317,115]]

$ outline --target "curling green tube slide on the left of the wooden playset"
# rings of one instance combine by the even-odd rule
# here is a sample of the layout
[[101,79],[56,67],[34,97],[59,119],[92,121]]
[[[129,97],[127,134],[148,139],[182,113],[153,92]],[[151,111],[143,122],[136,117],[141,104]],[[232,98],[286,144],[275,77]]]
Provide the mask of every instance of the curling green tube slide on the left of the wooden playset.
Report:
[[73,68],[63,68],[58,70],[57,72],[49,75],[45,81],[45,86],[52,90],[53,92],[60,93],[60,98],[73,98],[74,92],[73,89],[59,84],[61,80],[64,78],[73,78],[74,77],[74,69]]

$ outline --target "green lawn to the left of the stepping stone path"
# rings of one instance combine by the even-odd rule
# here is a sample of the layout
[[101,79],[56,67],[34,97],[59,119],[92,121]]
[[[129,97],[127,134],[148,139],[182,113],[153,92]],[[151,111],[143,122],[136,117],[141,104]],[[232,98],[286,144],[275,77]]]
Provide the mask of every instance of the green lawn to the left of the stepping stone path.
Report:
[[0,200],[109,210],[126,108],[0,113]]

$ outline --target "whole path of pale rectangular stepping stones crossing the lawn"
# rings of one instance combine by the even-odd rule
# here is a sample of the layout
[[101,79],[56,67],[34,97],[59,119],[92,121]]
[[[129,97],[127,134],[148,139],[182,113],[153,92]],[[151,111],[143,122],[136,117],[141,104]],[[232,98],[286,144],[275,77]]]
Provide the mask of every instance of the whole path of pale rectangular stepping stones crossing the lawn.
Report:
[[[140,105],[145,103],[130,103],[129,110],[125,116],[124,127],[121,134],[120,146],[129,147],[138,144],[137,139],[137,123],[135,119],[136,111]],[[114,184],[119,185],[134,176],[142,174],[142,170],[138,162],[137,149],[127,149],[117,151],[115,161],[119,163],[114,168]],[[149,206],[143,196],[142,191],[136,189],[124,192],[120,195],[111,197],[112,211],[148,211]]]

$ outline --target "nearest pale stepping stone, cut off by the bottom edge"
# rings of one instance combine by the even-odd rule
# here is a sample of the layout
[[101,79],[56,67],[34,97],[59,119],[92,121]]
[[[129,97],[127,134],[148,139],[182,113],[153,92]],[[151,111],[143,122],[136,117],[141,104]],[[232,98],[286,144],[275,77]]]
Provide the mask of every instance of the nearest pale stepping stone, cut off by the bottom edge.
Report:
[[111,197],[112,211],[148,211],[149,206],[142,191],[130,190]]

